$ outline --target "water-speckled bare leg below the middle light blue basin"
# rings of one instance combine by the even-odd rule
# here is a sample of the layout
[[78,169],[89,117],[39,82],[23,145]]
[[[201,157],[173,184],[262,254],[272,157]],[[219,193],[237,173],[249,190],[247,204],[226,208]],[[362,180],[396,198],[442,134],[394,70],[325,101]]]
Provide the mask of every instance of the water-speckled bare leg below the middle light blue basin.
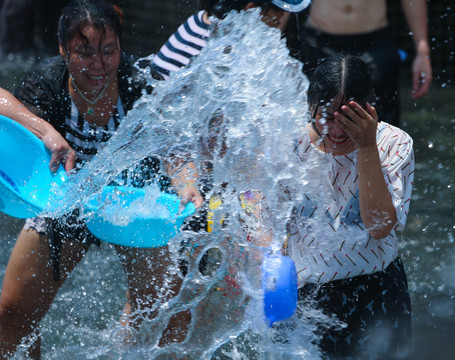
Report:
[[[137,315],[156,316],[156,312],[150,313],[154,303],[164,302],[175,296],[180,289],[182,279],[170,271],[174,264],[167,247],[132,249],[118,246],[116,249],[122,258],[129,288],[128,301],[124,308],[126,316],[122,317],[122,324],[138,328],[140,320]],[[163,289],[165,290],[162,291]],[[159,344],[183,341],[190,320],[189,312],[173,316]]]

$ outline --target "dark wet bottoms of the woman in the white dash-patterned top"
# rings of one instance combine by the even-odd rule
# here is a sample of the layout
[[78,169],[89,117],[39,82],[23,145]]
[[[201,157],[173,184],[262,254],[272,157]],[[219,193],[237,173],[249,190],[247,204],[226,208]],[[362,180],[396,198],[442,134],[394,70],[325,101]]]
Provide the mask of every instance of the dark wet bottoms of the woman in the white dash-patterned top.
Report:
[[410,350],[411,301],[399,258],[383,272],[305,284],[299,305],[344,323],[318,326],[324,359],[401,359]]

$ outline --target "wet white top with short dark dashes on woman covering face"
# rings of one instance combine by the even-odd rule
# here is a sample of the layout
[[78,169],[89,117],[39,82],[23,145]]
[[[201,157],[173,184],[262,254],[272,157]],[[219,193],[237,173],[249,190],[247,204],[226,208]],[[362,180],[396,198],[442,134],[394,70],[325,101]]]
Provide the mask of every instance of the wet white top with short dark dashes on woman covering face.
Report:
[[308,170],[308,176],[321,178],[302,185],[299,191],[304,196],[289,224],[287,250],[300,284],[383,271],[398,256],[397,231],[406,224],[414,179],[413,141],[403,130],[384,122],[378,124],[376,141],[397,217],[383,239],[373,239],[360,216],[358,151],[333,156],[319,151],[307,133],[298,140],[299,158],[320,164]]

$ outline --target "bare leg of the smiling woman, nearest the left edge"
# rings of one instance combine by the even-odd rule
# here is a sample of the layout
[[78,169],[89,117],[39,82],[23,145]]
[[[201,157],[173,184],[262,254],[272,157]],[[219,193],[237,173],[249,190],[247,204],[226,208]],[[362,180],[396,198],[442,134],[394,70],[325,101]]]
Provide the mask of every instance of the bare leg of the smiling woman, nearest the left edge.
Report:
[[[21,340],[39,326],[68,274],[88,245],[66,241],[61,250],[61,280],[55,281],[47,239],[35,230],[22,230],[6,268],[0,296],[0,358],[13,356]],[[30,349],[40,358],[39,340]]]

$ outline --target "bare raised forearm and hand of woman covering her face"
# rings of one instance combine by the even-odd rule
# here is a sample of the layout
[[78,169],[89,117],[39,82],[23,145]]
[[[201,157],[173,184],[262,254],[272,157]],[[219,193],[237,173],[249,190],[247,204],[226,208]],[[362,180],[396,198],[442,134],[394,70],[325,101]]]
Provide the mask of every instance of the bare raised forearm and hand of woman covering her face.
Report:
[[392,230],[397,216],[382,173],[376,145],[376,110],[370,104],[363,109],[354,101],[351,101],[349,106],[343,105],[341,109],[346,116],[335,113],[337,124],[346,131],[359,149],[357,171],[362,222],[373,238],[381,239]]

